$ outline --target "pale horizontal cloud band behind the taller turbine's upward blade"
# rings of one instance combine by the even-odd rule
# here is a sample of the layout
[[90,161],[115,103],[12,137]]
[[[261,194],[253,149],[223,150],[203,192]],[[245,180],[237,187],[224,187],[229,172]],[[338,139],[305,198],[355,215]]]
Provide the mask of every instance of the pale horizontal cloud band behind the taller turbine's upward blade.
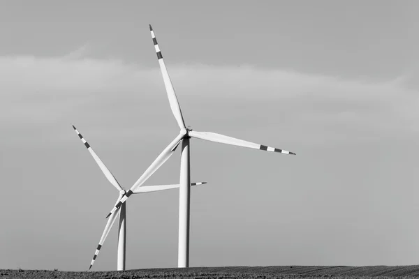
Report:
[[[128,112],[170,114],[159,68],[82,58],[87,48],[63,57],[0,57],[1,126],[43,126],[71,121],[80,112],[96,121],[119,119],[128,130],[138,122]],[[404,87],[403,77],[365,82],[252,66],[168,68],[186,116],[230,124],[240,119],[237,127],[264,123],[297,129],[319,142],[418,132],[418,94]]]

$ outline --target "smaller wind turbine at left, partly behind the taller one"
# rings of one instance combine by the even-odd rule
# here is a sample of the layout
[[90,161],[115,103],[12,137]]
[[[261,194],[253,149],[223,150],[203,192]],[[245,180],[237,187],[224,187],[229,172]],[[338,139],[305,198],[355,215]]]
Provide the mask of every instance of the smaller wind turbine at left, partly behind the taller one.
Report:
[[[108,181],[119,191],[119,197],[117,199],[117,203],[124,197],[126,191],[124,188],[122,188],[117,179],[115,179],[115,176],[110,172],[108,167],[105,166],[105,164],[102,162],[102,160],[97,156],[96,152],[91,148],[90,144],[87,143],[86,140],[84,140],[82,134],[73,126],[75,133],[78,134],[80,137],[80,140],[82,140],[84,146],[87,147],[87,150],[89,150],[91,156],[94,158],[98,166],[101,168],[103,174],[105,174]],[[197,186],[197,185],[203,185],[207,182],[194,182],[191,183],[191,186]],[[142,193],[151,193],[161,190],[169,190],[179,188],[179,184],[170,184],[170,185],[158,185],[158,186],[142,186],[139,188],[136,188],[133,192],[134,194],[142,194]],[[111,216],[111,218],[108,219],[108,223],[106,223],[105,229],[103,231],[103,234],[101,236],[101,240],[99,241],[98,247],[96,248],[96,252],[94,253],[93,259],[91,260],[89,270],[91,269],[91,266],[93,266],[94,261],[96,260],[96,257],[98,256],[103,243],[105,242],[106,236],[108,236],[110,229],[112,228],[112,225],[115,223],[115,220],[117,219],[117,213],[119,211],[119,228],[118,228],[118,253],[117,253],[117,270],[123,271],[125,270],[125,251],[126,251],[126,203],[122,204],[117,211]]]

